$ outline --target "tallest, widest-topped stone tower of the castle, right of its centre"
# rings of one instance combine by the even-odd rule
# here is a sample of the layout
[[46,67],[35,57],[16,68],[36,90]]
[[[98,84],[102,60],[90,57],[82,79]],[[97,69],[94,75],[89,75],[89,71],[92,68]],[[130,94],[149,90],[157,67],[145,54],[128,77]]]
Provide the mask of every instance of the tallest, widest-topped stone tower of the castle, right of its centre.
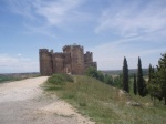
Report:
[[84,73],[84,51],[81,45],[65,45],[63,48],[64,53],[71,54],[71,68],[72,74],[83,74]]

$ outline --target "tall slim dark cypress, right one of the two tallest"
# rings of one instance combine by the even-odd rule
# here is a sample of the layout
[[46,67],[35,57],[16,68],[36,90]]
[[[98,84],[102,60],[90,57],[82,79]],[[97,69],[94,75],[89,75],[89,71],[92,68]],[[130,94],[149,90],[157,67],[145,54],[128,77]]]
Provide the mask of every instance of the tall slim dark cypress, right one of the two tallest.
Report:
[[143,79],[143,70],[142,70],[142,62],[141,58],[138,56],[138,64],[137,64],[137,91],[141,96],[144,96],[144,79]]

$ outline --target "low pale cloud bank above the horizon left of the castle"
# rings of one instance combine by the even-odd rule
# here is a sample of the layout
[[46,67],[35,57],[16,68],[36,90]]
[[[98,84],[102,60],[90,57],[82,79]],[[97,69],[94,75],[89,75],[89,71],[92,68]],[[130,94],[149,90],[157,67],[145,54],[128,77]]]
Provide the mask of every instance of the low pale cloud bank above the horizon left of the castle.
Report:
[[39,72],[39,62],[0,54],[0,73]]

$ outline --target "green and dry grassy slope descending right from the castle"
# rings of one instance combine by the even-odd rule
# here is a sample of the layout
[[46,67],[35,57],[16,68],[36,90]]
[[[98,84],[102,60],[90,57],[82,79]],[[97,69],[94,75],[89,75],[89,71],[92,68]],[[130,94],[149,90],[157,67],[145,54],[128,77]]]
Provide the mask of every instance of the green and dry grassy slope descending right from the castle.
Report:
[[[74,76],[74,83],[66,83],[61,89],[52,85],[56,94],[75,106],[79,112],[90,116],[98,124],[164,124],[166,106],[151,105],[149,97],[125,94],[118,89],[101,83],[87,76]],[[60,87],[60,86],[59,86]],[[132,99],[134,97],[134,99]],[[127,105],[137,101],[143,106]]]

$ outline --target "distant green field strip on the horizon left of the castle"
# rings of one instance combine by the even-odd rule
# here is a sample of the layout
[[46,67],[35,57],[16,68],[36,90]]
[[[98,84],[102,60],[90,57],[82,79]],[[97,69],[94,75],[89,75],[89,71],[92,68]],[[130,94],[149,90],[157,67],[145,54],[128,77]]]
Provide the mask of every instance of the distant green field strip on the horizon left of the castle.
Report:
[[7,73],[0,74],[0,83],[10,82],[10,81],[19,81],[29,78],[39,76],[39,73]]

